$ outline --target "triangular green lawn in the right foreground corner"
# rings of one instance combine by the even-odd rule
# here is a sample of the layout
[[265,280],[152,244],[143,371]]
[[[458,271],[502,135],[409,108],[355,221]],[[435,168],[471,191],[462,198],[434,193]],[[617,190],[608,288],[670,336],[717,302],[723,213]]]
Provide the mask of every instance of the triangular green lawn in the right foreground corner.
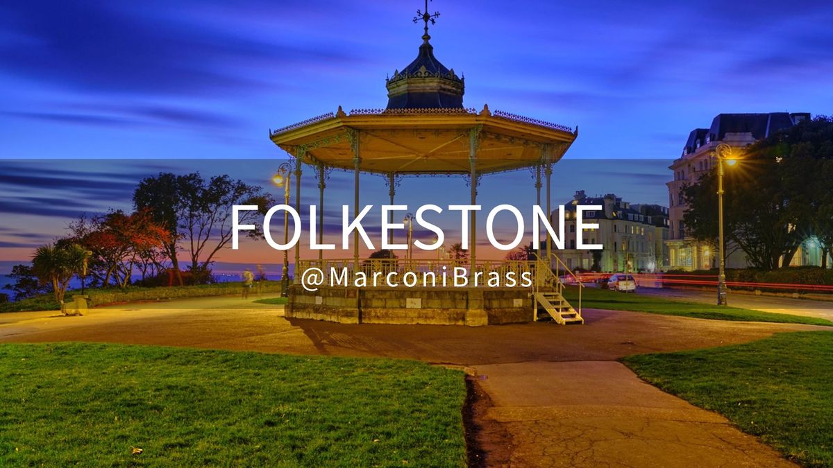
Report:
[[833,466],[833,331],[744,345],[628,356],[636,374],[806,466]]

